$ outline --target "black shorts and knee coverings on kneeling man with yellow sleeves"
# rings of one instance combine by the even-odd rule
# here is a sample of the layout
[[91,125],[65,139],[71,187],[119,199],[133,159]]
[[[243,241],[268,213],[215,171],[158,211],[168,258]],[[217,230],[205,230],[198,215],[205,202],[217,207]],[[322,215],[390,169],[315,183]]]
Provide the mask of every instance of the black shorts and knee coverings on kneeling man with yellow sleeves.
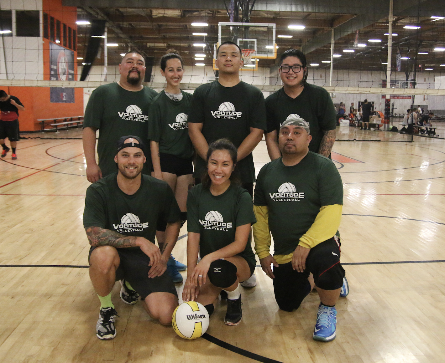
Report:
[[324,290],[339,289],[345,275],[340,264],[340,238],[334,236],[311,248],[303,272],[295,271],[291,262],[274,267],[273,272],[275,300],[284,311],[298,309],[311,292],[311,284],[307,281],[311,272],[318,287]]

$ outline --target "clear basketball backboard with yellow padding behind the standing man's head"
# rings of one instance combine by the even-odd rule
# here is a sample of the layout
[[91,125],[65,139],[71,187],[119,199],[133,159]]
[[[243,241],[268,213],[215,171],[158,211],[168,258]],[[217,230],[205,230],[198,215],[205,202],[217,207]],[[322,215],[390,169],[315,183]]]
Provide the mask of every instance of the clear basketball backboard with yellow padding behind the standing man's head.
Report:
[[241,70],[255,71],[259,59],[275,59],[275,23],[218,23],[218,43],[214,44],[213,68],[219,44],[228,40],[238,44],[241,49],[255,50],[250,62],[245,62]]

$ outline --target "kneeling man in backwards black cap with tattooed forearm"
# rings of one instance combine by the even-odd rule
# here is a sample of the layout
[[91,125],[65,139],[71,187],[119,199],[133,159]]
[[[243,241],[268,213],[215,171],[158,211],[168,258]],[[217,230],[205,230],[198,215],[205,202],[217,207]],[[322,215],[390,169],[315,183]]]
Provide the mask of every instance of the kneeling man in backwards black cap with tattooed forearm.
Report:
[[[149,315],[171,325],[178,295],[164,273],[178,239],[180,211],[168,184],[142,174],[146,161],[138,136],[122,136],[114,156],[118,172],[91,184],[85,196],[83,222],[91,245],[89,276],[101,301],[96,335],[116,336],[117,311],[111,301],[115,281],[121,281],[121,299],[127,304],[142,297]],[[156,224],[167,224],[162,251],[154,244]]]

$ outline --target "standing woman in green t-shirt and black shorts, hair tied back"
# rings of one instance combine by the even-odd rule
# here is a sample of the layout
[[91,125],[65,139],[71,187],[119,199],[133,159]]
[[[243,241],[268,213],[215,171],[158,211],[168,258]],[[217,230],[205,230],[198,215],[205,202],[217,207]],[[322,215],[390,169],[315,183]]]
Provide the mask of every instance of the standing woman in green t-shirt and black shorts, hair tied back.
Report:
[[[166,181],[174,192],[181,209],[181,227],[187,220],[187,192],[192,183],[193,147],[187,128],[191,94],[181,91],[184,73],[182,58],[173,49],[161,58],[161,74],[166,78],[165,90],[159,92],[151,104],[148,117],[148,139],[152,160],[151,175]],[[158,225],[156,237],[162,249],[165,225]],[[175,283],[182,282],[178,272],[186,266],[170,259],[168,272]]]

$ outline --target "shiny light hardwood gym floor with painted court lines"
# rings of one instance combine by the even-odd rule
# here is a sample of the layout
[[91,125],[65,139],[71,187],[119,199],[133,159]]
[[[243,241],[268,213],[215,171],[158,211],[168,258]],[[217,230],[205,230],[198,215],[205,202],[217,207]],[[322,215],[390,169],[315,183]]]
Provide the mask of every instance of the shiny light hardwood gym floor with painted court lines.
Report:
[[[315,292],[298,311],[279,311],[259,267],[257,286],[242,291],[240,325],[224,325],[221,303],[207,333],[263,362],[444,362],[445,141],[337,141],[334,152],[344,182],[341,260],[351,290],[336,305],[337,338],[312,339]],[[118,284],[117,337],[97,339],[99,300],[82,267],[89,183],[81,140],[23,140],[17,156],[11,160],[9,152],[0,162],[2,362],[255,361],[206,339],[179,338],[141,304],[122,303]],[[258,169],[268,161],[264,141],[254,159]],[[185,248],[182,238],[173,251],[180,261]]]

